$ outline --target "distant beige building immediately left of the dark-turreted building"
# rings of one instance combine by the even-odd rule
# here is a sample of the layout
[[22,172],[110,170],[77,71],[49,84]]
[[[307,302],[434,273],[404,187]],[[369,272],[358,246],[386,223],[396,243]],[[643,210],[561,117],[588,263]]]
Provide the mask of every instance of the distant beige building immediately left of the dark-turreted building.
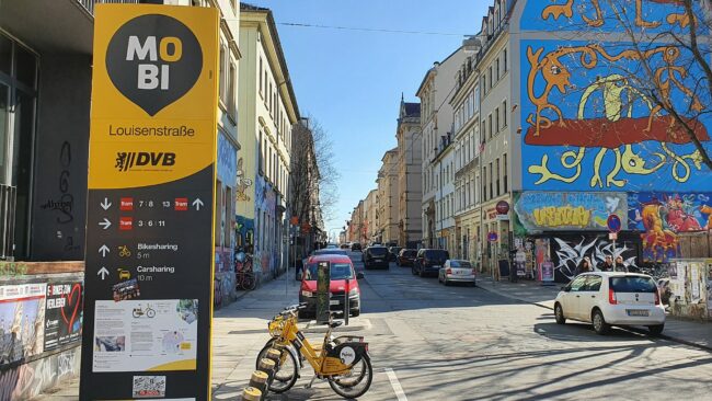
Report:
[[398,148],[388,150],[378,171],[378,234],[383,244],[398,243]]

